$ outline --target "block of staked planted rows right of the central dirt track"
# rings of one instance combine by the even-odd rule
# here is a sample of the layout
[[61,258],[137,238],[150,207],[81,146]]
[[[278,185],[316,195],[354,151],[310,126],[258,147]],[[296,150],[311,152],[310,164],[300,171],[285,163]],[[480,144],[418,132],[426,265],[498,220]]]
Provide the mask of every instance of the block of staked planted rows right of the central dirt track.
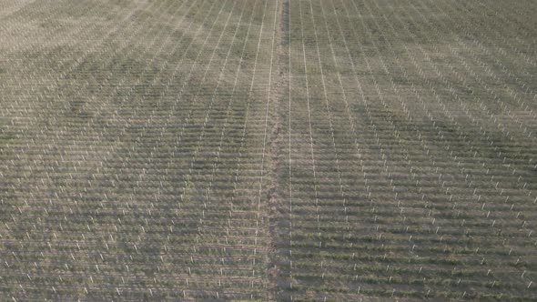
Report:
[[287,4],[280,297],[535,298],[534,41],[509,34],[522,15]]

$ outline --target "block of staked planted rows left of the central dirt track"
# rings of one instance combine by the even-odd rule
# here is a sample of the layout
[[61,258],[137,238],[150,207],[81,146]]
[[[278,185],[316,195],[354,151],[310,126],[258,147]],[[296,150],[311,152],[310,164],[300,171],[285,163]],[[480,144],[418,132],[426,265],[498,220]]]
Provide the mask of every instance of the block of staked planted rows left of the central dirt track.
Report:
[[277,8],[3,7],[2,300],[266,299]]

